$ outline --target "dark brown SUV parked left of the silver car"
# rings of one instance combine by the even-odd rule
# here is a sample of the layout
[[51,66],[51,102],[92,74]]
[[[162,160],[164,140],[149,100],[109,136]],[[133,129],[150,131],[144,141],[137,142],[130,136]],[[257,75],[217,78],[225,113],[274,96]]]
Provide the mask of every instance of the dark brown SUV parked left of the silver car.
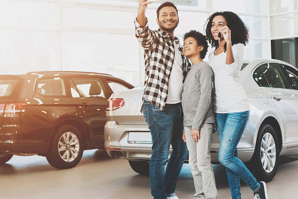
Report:
[[94,72],[0,75],[0,163],[37,154],[55,168],[74,167],[83,150],[104,148],[107,100],[131,88]]

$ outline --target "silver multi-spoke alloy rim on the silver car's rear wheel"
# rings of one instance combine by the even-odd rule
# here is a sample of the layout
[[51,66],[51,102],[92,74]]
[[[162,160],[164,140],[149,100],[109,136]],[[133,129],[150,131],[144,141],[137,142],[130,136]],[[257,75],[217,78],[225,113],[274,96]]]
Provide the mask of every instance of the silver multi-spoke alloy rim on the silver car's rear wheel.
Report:
[[263,169],[270,173],[276,163],[276,146],[271,133],[267,132],[263,135],[260,152]]

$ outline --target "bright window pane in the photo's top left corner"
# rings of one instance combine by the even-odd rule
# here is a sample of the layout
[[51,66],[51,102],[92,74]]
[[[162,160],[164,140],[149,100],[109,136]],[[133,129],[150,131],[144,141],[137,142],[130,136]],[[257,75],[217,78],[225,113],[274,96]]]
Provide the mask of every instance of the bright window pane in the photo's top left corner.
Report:
[[1,0],[0,26],[4,28],[56,28],[56,4]]

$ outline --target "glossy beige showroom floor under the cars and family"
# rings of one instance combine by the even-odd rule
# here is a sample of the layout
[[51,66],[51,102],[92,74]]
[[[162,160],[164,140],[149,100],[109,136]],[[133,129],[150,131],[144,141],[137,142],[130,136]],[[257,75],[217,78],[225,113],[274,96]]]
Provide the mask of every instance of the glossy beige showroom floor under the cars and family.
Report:
[[[269,199],[297,198],[298,155],[280,158],[275,178],[267,183]],[[213,166],[218,199],[230,199],[225,169]],[[149,177],[138,175],[128,161],[110,158],[104,150],[87,150],[81,162],[72,169],[58,170],[45,157],[14,156],[0,166],[1,199],[150,199]],[[249,187],[242,182],[242,199],[253,199]],[[177,182],[180,199],[194,198],[190,166],[184,164]]]

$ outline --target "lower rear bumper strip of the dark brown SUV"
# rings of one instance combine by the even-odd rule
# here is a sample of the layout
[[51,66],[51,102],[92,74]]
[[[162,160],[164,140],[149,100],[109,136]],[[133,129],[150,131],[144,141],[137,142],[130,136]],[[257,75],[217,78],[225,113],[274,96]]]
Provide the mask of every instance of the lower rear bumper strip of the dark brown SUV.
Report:
[[42,154],[49,149],[48,143],[42,144],[0,144],[0,154]]

